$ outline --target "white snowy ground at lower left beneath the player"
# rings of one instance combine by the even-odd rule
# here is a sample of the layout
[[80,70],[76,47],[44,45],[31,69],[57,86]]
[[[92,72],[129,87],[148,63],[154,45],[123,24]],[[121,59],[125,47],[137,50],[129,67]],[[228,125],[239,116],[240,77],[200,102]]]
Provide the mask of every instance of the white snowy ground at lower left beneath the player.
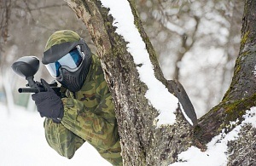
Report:
[[44,118],[22,107],[8,110],[0,103],[0,165],[111,165],[85,143],[72,159],[61,157],[44,139]]

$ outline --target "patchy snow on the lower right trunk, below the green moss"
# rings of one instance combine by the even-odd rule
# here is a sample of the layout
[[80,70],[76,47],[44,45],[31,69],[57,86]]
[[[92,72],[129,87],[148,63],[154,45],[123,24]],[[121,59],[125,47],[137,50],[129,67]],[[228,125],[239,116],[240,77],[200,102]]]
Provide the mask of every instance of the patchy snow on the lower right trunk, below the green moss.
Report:
[[[212,140],[207,144],[207,151],[201,152],[195,146],[189,147],[186,152],[182,152],[178,155],[177,160],[179,162],[172,163],[170,166],[187,166],[187,165],[209,165],[209,166],[219,166],[227,165],[228,157],[228,142],[231,140],[237,140],[239,138],[239,133],[245,125],[252,125],[256,128],[256,107],[252,107],[250,110],[243,115],[244,120],[241,124],[237,125],[236,128],[232,129],[228,134],[224,133],[224,130],[219,135],[212,138]],[[231,125],[238,123],[230,122]]]

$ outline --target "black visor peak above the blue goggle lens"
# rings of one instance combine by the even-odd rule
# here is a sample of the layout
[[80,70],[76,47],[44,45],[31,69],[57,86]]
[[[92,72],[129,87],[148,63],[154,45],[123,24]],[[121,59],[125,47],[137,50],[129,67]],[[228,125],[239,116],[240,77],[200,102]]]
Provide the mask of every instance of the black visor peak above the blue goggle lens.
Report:
[[[87,51],[89,49],[87,44],[84,42],[84,39],[80,38],[77,42],[67,42],[60,43],[52,46],[51,48],[44,51],[42,63],[47,65],[49,63],[53,63],[56,60],[60,60],[63,56],[68,54],[72,49],[76,46],[80,46],[81,52]],[[90,50],[90,49],[89,49]]]

